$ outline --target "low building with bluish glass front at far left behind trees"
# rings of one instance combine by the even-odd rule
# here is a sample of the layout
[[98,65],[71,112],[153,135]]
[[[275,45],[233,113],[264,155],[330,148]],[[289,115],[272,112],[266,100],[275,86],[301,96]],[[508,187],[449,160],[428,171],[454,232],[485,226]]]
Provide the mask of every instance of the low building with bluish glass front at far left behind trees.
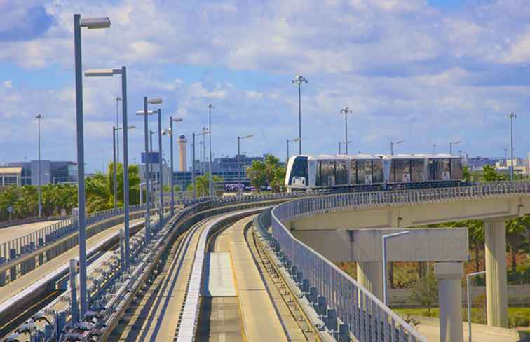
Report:
[[[0,186],[39,184],[39,160],[9,162],[0,165]],[[41,160],[41,185],[76,184],[77,163]]]

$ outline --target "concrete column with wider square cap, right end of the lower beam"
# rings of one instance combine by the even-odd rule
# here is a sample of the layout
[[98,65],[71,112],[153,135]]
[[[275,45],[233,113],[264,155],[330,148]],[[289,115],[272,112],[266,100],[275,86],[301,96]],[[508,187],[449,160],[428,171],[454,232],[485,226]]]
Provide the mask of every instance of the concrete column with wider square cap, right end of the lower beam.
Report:
[[440,305],[440,342],[463,342],[461,262],[435,264]]

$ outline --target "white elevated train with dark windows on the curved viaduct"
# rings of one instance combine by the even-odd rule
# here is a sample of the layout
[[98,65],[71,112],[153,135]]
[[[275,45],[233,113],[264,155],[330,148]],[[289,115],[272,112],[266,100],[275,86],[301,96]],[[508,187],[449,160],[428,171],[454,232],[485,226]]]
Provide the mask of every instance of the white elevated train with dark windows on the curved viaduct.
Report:
[[462,181],[461,158],[450,154],[292,156],[285,175],[289,191],[416,189]]

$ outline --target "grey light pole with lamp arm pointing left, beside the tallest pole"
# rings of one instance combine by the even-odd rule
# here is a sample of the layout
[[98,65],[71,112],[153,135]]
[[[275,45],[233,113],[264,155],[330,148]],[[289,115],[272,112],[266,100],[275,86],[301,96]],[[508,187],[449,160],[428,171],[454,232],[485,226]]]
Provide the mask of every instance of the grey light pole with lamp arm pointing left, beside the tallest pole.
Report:
[[[128,126],[127,126],[127,67],[120,69],[87,70],[85,77],[112,77],[121,75],[121,123],[123,124],[123,235],[125,240],[125,270],[129,269],[129,151],[128,151]],[[116,97],[116,106],[118,97]],[[117,110],[116,110],[117,111]],[[134,126],[132,126],[134,127]],[[118,149],[119,151],[119,149]],[[118,152],[119,160],[119,152]],[[114,182],[116,183],[116,182]],[[141,190],[141,189],[140,189]],[[141,193],[141,191],[140,191]]]

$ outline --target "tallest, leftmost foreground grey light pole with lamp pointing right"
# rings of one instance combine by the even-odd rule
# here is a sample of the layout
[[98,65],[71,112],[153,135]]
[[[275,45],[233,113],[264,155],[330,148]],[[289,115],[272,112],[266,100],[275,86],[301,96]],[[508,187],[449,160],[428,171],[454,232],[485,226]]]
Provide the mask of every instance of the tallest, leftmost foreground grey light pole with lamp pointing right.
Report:
[[88,310],[86,291],[86,218],[85,218],[85,156],[83,135],[83,65],[81,61],[81,27],[88,29],[107,29],[111,25],[109,18],[83,18],[74,14],[74,55],[76,70],[76,138],[77,138],[77,207],[79,225],[79,295],[81,297],[81,317]]

